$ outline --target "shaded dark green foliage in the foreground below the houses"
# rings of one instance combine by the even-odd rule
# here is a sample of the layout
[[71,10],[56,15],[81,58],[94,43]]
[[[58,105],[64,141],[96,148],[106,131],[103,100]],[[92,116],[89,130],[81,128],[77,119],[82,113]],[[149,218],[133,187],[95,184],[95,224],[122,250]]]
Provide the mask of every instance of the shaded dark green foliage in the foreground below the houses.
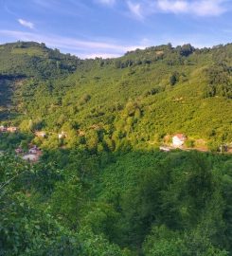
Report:
[[0,157],[0,255],[232,255],[229,156]]

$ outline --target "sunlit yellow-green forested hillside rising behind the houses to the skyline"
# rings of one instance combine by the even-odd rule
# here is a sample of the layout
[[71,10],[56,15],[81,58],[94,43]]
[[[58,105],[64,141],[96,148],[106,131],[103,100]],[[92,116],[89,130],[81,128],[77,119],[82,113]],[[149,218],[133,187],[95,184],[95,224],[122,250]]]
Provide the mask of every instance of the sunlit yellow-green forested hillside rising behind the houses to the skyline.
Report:
[[231,145],[232,44],[80,60],[17,42],[0,46],[0,59],[0,125],[45,132],[34,138],[42,147],[152,149],[177,133],[187,148]]

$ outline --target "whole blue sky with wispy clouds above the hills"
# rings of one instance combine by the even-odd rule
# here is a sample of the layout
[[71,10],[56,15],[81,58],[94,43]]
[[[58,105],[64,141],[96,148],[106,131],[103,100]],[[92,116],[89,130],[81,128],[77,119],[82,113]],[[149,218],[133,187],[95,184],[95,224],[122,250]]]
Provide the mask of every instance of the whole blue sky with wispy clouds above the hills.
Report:
[[232,0],[0,0],[0,44],[43,42],[80,58],[231,39]]

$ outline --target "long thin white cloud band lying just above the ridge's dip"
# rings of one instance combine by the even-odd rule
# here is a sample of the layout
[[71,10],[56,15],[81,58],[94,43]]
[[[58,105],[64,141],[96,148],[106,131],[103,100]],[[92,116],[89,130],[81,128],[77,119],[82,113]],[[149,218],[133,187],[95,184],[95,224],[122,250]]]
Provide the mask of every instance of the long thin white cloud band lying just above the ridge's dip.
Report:
[[[82,41],[69,37],[57,35],[43,35],[30,32],[22,32],[15,30],[0,30],[0,35],[4,35],[13,41],[35,41],[45,43],[46,46],[60,48],[64,52],[76,54],[80,57],[102,56],[102,57],[117,57],[124,54],[126,51],[131,51],[136,48],[144,48],[145,46],[125,46],[116,43],[105,43],[96,41]],[[9,39],[8,39],[9,40]],[[97,52],[97,53],[96,53]]]

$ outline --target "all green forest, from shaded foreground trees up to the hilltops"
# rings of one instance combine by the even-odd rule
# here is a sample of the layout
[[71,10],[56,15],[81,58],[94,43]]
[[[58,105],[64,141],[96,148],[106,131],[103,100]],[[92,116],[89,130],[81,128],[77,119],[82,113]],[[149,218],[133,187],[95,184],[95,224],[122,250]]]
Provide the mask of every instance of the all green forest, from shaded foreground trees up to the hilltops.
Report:
[[1,256],[232,255],[232,44],[0,60]]

